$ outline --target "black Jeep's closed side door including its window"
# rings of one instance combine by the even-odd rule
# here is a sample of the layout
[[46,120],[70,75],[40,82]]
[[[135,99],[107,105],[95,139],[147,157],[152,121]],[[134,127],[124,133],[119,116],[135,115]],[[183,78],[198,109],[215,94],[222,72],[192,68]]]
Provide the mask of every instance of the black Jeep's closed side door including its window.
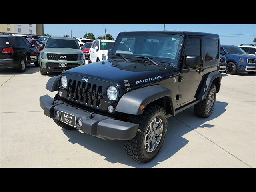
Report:
[[[198,56],[200,58],[196,67],[185,65],[187,56]],[[202,76],[200,70],[203,67],[202,36],[187,36],[183,58],[182,65],[189,69],[189,72],[181,74],[179,78],[177,104],[180,106],[196,99],[194,96]]]

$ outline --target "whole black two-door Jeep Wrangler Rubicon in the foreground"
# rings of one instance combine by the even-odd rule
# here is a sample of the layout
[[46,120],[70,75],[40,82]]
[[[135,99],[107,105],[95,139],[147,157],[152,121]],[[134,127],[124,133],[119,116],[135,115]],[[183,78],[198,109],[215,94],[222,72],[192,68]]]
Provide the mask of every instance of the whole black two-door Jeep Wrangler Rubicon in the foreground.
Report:
[[194,106],[207,118],[220,90],[219,36],[200,32],[121,32],[108,60],[62,72],[40,97],[44,114],[66,129],[124,140],[131,158],[160,151],[167,118]]

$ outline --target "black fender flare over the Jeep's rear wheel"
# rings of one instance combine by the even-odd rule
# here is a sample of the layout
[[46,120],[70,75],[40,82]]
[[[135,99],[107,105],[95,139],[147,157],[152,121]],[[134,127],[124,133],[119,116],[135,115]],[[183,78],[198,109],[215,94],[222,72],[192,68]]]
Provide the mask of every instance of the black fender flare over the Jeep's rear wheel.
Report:
[[216,78],[220,78],[219,81],[219,85],[220,86],[220,82],[221,82],[221,74],[218,71],[213,71],[210,72],[206,75],[206,77],[204,78],[202,84],[200,85],[200,90],[196,96],[197,99],[199,100],[204,100],[206,98],[206,95],[208,94],[210,87],[212,85],[212,82],[214,81],[214,79]]

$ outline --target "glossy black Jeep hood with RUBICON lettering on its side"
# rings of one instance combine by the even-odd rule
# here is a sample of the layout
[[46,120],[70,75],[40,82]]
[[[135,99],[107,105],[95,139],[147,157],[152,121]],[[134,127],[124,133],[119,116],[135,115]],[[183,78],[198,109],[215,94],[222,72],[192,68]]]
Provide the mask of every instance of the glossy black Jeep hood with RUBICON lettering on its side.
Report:
[[113,82],[122,89],[126,88],[124,80],[128,80],[130,86],[144,86],[174,75],[177,71],[172,66],[162,64],[155,66],[148,62],[105,60],[75,67],[65,73],[88,78],[89,82],[90,78]]

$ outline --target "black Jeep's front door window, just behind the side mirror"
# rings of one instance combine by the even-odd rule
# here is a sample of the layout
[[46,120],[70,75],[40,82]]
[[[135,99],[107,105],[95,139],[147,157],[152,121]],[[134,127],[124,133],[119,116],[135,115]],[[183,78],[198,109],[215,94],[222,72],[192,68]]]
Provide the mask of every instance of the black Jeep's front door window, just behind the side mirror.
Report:
[[186,42],[185,57],[188,55],[201,55],[201,39],[199,38],[189,38]]

